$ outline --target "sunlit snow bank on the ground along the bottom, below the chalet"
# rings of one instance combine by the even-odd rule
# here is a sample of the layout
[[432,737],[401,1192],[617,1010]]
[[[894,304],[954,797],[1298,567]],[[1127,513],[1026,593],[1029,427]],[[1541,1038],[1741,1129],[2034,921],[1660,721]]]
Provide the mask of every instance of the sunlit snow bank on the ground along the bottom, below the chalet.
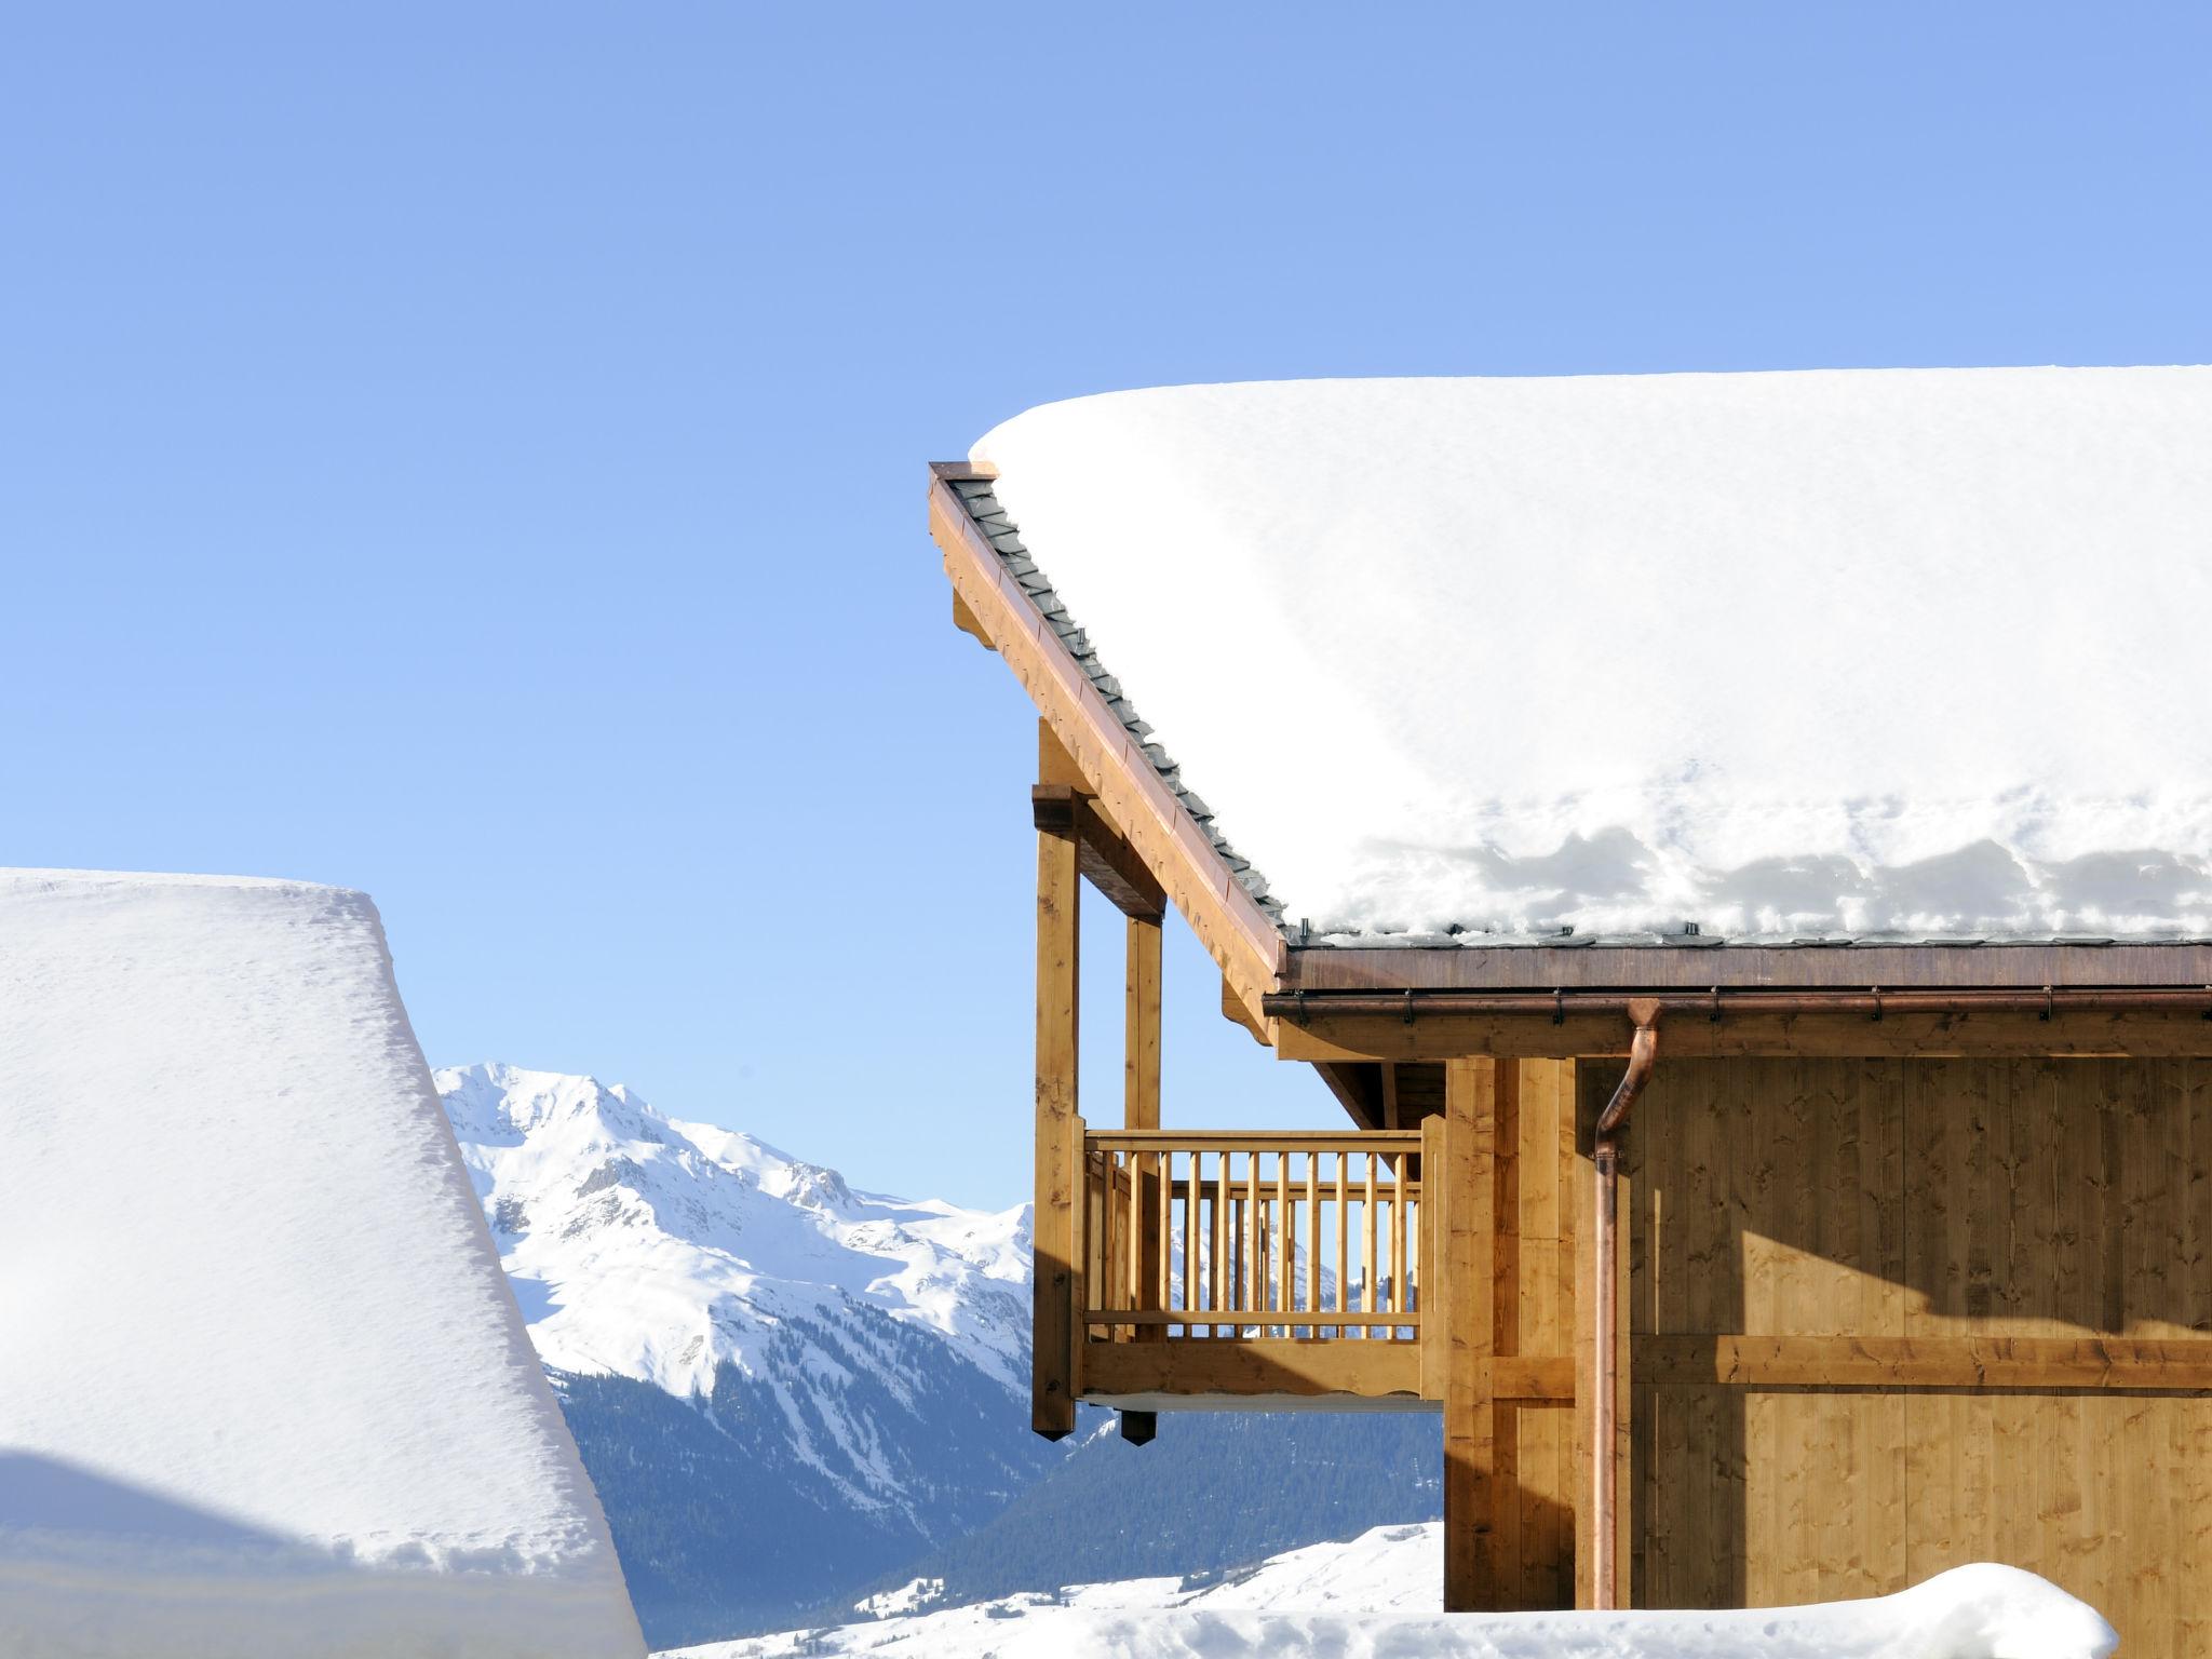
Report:
[[1082,1584],[664,1659],[2104,1659],[2119,1641],[2093,1608],[2008,1566],[1747,1613],[1442,1615],[1440,1577],[1438,1524],[1378,1526],[1210,1582]]

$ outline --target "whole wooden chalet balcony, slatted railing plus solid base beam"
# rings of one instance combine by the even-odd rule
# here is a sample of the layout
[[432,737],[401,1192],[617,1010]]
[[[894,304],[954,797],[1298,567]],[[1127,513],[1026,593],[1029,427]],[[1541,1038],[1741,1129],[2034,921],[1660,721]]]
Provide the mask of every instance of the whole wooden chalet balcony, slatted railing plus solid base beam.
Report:
[[1075,1398],[1126,1411],[1431,1405],[1420,1130],[1075,1121]]

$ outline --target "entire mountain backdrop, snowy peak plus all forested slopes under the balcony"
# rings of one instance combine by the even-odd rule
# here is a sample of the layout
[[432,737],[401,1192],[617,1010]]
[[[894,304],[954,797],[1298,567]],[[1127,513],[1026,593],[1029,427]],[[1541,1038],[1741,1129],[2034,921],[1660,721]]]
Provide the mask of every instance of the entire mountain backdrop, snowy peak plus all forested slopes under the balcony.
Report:
[[438,1091],[653,1646],[916,1575],[975,1601],[1436,1513],[1431,1418],[1037,1440],[1026,1206],[858,1192],[591,1077],[460,1066]]

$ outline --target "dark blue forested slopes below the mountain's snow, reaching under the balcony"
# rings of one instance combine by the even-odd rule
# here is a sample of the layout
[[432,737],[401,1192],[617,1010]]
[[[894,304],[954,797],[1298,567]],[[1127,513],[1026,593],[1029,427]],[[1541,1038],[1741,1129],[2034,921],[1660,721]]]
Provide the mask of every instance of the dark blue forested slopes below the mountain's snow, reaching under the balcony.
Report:
[[[803,1345],[896,1358],[849,1380],[801,1371]],[[852,1604],[942,1577],[947,1604],[1121,1577],[1203,1575],[1323,1537],[1440,1513],[1431,1416],[1164,1413],[1159,1440],[1029,1433],[1026,1402],[945,1345],[874,1310],[790,1323],[790,1369],[723,1365],[695,1400],[650,1383],[555,1376],[653,1648],[849,1621]],[[852,1354],[858,1360],[858,1354]],[[779,1394],[768,1378],[781,1380]],[[863,1391],[883,1502],[801,1455],[816,1400]],[[1086,1413],[1086,1431],[1104,1425]],[[1071,1449],[1073,1447],[1073,1449]]]

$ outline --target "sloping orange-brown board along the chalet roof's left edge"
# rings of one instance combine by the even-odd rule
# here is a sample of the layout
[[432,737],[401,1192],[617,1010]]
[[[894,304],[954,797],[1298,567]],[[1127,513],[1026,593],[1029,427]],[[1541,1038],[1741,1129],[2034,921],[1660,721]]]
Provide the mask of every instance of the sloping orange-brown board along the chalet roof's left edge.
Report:
[[[1243,1024],[1272,1037],[1261,998],[1276,989],[1287,945],[1274,920],[1243,889],[1214,843],[1175,792],[1161,783],[1144,748],[1115,717],[1075,664],[1044,613],[1000,564],[951,489],[956,478],[991,478],[982,467],[938,462],[929,469],[929,535],[945,555],[958,604],[991,641],[1046,726],[1073,757],[1097,810],[1119,832],[1133,860],[1190,922],[1221,969],[1223,991],[1243,1009]],[[1086,872],[1088,874],[1088,872]]]

